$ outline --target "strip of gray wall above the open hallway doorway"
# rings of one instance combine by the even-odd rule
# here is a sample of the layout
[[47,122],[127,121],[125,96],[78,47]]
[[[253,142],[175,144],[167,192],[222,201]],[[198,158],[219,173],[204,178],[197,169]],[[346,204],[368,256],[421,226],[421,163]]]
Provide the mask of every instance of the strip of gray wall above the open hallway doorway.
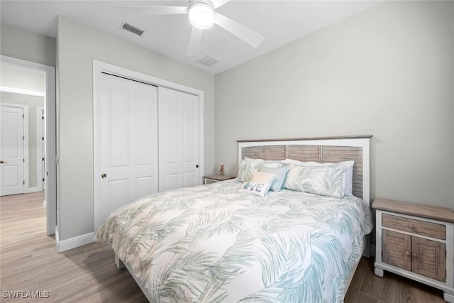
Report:
[[55,66],[55,38],[0,23],[1,55]]

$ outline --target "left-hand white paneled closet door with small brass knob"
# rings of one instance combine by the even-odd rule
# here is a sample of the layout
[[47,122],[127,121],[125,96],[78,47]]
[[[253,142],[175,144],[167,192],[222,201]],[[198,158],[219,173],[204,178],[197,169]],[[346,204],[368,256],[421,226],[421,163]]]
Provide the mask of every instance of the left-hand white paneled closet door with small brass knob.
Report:
[[157,87],[104,73],[99,87],[102,223],[111,211],[158,190]]

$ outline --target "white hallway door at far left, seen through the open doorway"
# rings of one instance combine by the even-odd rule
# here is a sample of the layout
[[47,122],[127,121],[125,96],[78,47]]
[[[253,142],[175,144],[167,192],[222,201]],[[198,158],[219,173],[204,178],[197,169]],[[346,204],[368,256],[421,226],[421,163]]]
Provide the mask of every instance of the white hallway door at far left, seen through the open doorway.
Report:
[[0,196],[24,192],[23,109],[0,106]]

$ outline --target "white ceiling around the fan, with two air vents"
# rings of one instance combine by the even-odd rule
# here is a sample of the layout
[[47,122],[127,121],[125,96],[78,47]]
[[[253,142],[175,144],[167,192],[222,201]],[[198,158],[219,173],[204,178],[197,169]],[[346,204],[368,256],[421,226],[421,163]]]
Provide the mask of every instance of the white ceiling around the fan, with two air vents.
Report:
[[[369,9],[380,1],[232,0],[216,11],[264,35],[265,40],[258,48],[253,48],[214,25],[204,30],[199,55],[192,57],[185,55],[192,30],[187,15],[127,16],[114,9],[114,6],[125,5],[187,6],[188,2],[1,0],[0,20],[55,38],[57,15],[62,15],[216,75],[331,23]],[[139,37],[123,30],[123,22],[145,30],[145,34]],[[219,62],[211,67],[196,62],[205,55]]]

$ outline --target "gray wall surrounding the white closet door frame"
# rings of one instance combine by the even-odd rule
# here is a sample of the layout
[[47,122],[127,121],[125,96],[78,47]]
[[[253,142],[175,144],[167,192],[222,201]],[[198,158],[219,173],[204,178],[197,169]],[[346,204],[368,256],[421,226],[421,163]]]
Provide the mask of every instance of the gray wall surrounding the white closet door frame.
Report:
[[214,76],[138,45],[58,18],[60,240],[93,231],[93,60],[204,91],[205,169],[214,169]]

